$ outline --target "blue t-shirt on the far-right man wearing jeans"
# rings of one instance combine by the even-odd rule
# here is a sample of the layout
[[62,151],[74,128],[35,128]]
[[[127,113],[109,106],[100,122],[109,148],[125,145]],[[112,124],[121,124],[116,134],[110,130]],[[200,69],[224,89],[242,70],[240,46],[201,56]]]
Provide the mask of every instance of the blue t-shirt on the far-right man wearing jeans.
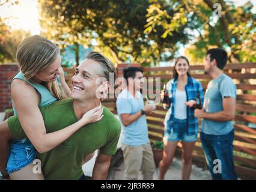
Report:
[[[209,82],[204,95],[204,110],[207,113],[216,113],[223,110],[224,97],[236,98],[236,85],[226,74],[221,74]],[[202,130],[205,134],[222,135],[233,130],[231,121],[218,122],[203,119]]]

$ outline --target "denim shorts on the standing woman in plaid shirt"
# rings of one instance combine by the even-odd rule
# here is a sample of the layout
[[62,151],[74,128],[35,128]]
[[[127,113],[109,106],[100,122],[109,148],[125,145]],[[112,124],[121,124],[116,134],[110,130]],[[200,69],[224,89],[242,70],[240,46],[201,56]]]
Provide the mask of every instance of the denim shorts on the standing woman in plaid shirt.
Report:
[[195,142],[197,140],[197,133],[194,135],[187,135],[187,119],[173,119],[171,125],[165,130],[164,139],[169,142],[182,140],[184,142]]

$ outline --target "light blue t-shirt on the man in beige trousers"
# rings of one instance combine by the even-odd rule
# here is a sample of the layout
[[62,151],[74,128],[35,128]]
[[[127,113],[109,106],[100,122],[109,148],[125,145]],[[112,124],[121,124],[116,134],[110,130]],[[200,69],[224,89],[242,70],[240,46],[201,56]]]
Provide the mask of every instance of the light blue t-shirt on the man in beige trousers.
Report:
[[[124,89],[117,97],[117,114],[121,119],[120,115],[123,113],[134,114],[139,110],[143,109],[144,101],[141,92],[136,92],[134,98],[127,89]],[[123,140],[124,145],[138,146],[144,145],[149,142],[148,139],[148,126],[146,116],[142,115],[135,122],[128,125],[127,127],[122,124],[123,129]]]

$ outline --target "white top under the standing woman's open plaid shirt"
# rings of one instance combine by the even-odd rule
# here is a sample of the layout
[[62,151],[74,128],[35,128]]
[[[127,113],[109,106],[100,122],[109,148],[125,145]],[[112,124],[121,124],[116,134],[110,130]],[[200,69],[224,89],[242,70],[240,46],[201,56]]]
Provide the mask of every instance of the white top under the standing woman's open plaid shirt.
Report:
[[174,105],[174,118],[186,119],[187,118],[187,101],[186,91],[179,91],[176,89],[175,93],[175,105]]

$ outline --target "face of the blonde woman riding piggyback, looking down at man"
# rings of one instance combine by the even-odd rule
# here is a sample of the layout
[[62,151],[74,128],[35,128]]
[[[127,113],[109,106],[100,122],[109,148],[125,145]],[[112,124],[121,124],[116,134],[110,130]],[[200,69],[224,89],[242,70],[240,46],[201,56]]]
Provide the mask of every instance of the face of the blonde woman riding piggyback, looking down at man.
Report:
[[61,67],[61,56],[58,55],[55,61],[53,61],[53,63],[50,64],[49,67],[35,74],[34,79],[37,81],[43,81],[43,82],[53,82],[57,79],[58,75],[61,73],[59,71],[60,67]]

